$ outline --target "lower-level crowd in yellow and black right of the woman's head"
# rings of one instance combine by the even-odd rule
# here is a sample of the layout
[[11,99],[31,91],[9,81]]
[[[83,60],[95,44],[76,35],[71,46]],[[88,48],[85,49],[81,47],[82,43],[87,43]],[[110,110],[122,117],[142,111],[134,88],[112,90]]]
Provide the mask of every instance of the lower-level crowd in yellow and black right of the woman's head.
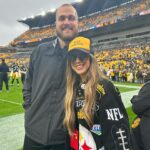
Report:
[[150,70],[150,65],[144,61],[150,58],[150,45],[97,51],[95,57],[106,76],[113,81],[142,84]]

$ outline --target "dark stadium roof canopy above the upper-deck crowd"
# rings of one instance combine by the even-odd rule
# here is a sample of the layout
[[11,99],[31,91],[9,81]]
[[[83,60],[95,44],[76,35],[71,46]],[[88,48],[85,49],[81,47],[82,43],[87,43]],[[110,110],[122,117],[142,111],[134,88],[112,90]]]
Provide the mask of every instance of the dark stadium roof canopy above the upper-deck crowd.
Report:
[[[79,17],[83,17],[96,12],[116,8],[127,3],[140,1],[142,0],[82,0],[82,2],[75,2],[72,4],[76,8]],[[44,16],[37,15],[34,18],[30,17],[18,21],[27,24],[30,28],[53,25],[55,24],[55,11],[49,11]]]

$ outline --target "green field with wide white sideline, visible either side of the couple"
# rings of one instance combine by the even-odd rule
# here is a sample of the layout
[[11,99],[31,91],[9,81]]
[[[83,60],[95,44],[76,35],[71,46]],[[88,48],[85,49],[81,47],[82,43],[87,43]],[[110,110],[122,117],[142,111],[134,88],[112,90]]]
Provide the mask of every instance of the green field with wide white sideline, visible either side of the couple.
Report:
[[[121,91],[123,103],[127,108],[130,122],[135,117],[130,99],[137,94],[140,86],[136,84],[115,83]],[[24,138],[22,84],[10,86],[10,91],[0,93],[0,145],[3,150],[18,150]]]

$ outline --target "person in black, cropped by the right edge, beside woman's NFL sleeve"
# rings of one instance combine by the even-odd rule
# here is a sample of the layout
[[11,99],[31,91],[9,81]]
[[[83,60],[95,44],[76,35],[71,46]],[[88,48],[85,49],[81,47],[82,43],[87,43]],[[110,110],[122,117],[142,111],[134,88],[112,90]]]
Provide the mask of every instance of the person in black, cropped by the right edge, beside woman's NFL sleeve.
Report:
[[[137,114],[138,122],[132,125],[135,141],[139,150],[150,149],[150,72],[147,73],[145,84],[138,95],[131,99],[132,108]],[[137,126],[139,124],[139,126]]]

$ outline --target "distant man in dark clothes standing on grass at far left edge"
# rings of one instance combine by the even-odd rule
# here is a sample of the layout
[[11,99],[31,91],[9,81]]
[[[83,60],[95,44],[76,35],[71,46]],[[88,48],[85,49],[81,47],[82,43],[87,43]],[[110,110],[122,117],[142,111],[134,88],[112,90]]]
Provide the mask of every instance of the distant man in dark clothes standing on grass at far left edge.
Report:
[[2,59],[2,63],[0,64],[0,92],[2,92],[3,82],[5,82],[6,90],[9,90],[8,86],[8,72],[9,67],[5,63],[5,59]]

